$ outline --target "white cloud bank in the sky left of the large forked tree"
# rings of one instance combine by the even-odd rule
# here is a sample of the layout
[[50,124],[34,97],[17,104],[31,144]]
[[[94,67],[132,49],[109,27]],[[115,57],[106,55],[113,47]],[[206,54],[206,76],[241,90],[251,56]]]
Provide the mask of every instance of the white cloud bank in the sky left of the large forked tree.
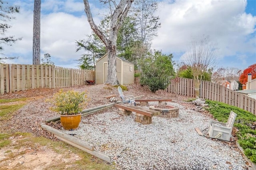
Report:
[[[72,3],[72,1],[66,3]],[[74,6],[76,5],[77,3],[74,4]],[[47,4],[44,5],[44,8],[46,6]],[[98,24],[100,18],[96,16],[94,21]],[[17,41],[13,46],[4,45],[3,52],[7,56],[20,56],[19,59],[12,60],[12,63],[32,64],[33,11],[25,11],[21,8],[20,13],[16,14],[16,19],[12,20],[10,25],[12,28],[8,29],[8,35],[22,37],[22,40]],[[84,51],[76,52],[75,41],[85,38],[91,32],[85,13],[81,16],[64,12],[41,14],[41,58],[44,53],[49,53],[52,56],[51,60],[56,65],[73,65],[75,67],[77,61],[74,60],[84,53]]]

